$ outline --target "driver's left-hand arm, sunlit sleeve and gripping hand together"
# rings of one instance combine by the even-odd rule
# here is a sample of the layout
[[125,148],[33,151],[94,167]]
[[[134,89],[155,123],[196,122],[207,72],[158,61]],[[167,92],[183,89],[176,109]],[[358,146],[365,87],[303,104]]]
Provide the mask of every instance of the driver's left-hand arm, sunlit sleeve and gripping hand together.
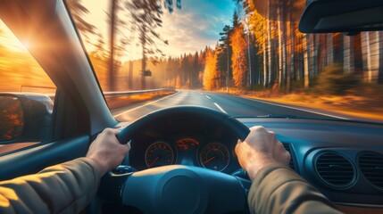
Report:
[[43,169],[36,175],[0,182],[0,213],[78,213],[96,194],[104,173],[121,163],[129,144],[105,129],[87,156]]

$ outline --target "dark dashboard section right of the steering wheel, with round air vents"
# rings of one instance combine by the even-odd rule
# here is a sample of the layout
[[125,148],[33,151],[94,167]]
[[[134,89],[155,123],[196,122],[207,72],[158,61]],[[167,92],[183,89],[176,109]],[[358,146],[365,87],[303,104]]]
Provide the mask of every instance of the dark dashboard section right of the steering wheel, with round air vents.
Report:
[[[288,144],[298,174],[332,202],[383,208],[383,126],[314,119],[239,119]],[[285,145],[286,147],[286,145]]]

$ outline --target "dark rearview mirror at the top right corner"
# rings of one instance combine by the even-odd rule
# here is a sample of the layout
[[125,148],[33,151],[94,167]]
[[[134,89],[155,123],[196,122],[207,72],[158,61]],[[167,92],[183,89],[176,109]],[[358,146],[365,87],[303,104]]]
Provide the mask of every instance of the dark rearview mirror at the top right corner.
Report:
[[383,29],[383,1],[307,0],[299,22],[303,33],[346,32]]

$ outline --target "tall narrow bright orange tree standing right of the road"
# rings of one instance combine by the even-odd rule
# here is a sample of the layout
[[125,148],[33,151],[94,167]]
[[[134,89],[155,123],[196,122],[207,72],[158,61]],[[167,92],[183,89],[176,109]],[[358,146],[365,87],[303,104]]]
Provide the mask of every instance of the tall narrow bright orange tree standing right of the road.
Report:
[[247,68],[247,43],[245,39],[245,30],[243,24],[233,29],[230,36],[230,45],[233,49],[231,55],[231,68],[233,70],[234,84],[237,87],[246,86]]

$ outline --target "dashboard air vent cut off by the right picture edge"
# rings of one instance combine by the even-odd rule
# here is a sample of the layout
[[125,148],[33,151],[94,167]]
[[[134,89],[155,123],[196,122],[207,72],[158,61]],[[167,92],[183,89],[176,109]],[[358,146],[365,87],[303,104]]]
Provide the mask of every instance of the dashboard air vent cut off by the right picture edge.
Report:
[[359,155],[359,168],[372,185],[383,188],[383,155],[374,152],[362,152]]

